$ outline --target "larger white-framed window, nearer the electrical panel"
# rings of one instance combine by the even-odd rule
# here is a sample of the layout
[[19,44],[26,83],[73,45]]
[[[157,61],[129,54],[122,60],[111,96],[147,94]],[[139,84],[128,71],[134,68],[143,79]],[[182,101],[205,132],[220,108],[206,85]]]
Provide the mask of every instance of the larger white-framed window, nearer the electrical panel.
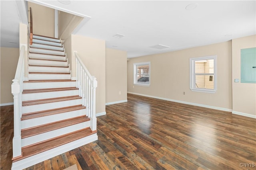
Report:
[[215,93],[217,90],[217,56],[190,58],[190,89]]

